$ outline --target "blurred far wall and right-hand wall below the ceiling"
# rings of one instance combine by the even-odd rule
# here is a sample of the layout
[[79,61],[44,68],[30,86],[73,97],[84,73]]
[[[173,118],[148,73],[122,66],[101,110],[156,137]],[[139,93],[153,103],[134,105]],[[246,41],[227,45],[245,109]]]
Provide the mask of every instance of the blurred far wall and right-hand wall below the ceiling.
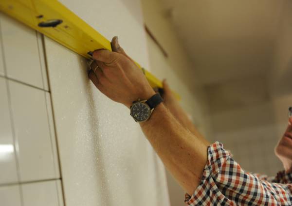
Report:
[[[209,96],[212,137],[224,143],[237,162],[251,172],[275,175],[283,169],[274,155],[274,146],[287,127],[288,108],[292,106],[291,11],[292,1],[284,1],[271,72],[267,68],[266,75],[209,88],[214,94]],[[236,101],[220,104],[227,93]],[[211,101],[214,96],[215,101]]]

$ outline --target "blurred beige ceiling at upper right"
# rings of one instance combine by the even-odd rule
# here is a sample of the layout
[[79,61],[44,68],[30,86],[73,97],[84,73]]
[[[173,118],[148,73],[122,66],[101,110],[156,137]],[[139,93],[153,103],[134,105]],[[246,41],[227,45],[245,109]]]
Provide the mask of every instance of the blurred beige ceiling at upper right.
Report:
[[201,84],[271,68],[282,0],[162,0]]

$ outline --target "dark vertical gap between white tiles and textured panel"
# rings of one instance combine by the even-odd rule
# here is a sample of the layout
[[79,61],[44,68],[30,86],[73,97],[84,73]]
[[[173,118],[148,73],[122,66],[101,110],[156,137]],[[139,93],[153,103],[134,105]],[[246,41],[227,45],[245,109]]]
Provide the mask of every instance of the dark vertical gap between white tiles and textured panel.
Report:
[[[63,205],[66,206],[66,198],[65,198],[65,191],[64,191],[64,184],[63,184],[63,176],[62,176],[62,168],[61,168],[61,159],[60,159],[60,151],[59,151],[59,142],[57,138],[57,130],[56,130],[56,124],[55,124],[55,110],[54,110],[54,104],[53,104],[53,98],[51,93],[51,83],[49,78],[49,69],[48,69],[48,61],[47,61],[47,52],[46,52],[46,45],[45,45],[45,38],[44,35],[41,34],[41,42],[42,42],[42,48],[43,48],[43,55],[44,55],[44,63],[45,63],[45,71],[47,73],[47,79],[48,79],[48,89],[50,91],[50,101],[51,101],[51,109],[52,109],[52,117],[53,117],[53,127],[55,132],[55,142],[56,142],[56,152],[57,152],[57,159],[58,159],[58,165],[59,165],[59,173],[60,173],[60,182],[61,182],[61,190],[62,190],[62,199],[63,199]],[[59,196],[59,193],[58,193]],[[58,200],[59,201],[59,200]]]

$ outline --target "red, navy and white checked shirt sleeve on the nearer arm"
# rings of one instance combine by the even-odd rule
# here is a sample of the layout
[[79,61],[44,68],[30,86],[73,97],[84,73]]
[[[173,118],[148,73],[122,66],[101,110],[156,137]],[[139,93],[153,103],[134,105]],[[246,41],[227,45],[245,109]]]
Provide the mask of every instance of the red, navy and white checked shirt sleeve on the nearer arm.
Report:
[[[208,147],[208,162],[201,183],[192,196],[185,195],[187,206],[292,206],[291,174],[289,182],[259,179],[239,166],[223,145]],[[276,178],[275,178],[276,179]],[[285,184],[281,184],[281,181]]]

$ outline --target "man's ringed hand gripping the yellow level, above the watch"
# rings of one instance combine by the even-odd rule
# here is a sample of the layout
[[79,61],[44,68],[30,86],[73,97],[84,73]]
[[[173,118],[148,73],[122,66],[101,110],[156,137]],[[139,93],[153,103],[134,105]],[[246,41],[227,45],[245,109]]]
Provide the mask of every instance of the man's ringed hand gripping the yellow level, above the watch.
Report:
[[128,108],[133,101],[155,95],[143,72],[120,47],[117,37],[112,38],[111,47],[113,51],[93,52],[94,62],[88,76],[97,89]]

